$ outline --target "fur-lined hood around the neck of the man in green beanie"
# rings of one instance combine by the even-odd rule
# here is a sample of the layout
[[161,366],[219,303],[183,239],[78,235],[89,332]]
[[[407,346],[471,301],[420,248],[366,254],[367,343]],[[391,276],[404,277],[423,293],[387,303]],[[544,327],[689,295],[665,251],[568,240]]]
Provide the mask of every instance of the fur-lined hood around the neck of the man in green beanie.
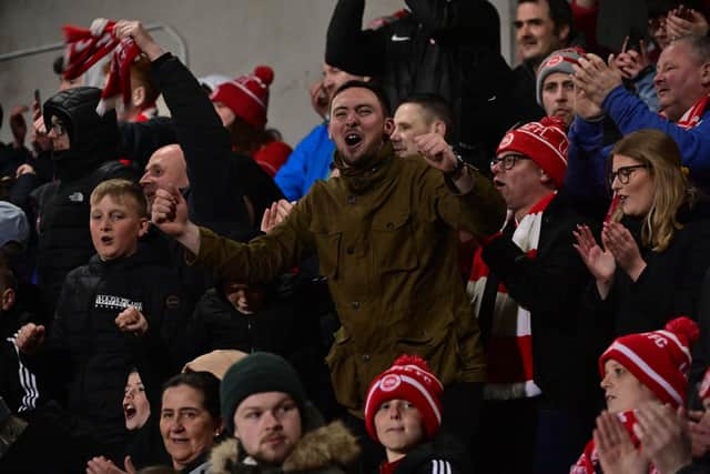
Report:
[[[240,460],[240,444],[230,438],[212,450],[210,455],[211,474],[235,474],[241,472],[262,472],[258,466],[246,465]],[[343,472],[344,466],[359,454],[355,436],[342,422],[333,422],[306,433],[284,461],[281,472]],[[263,472],[273,470],[263,470]]]

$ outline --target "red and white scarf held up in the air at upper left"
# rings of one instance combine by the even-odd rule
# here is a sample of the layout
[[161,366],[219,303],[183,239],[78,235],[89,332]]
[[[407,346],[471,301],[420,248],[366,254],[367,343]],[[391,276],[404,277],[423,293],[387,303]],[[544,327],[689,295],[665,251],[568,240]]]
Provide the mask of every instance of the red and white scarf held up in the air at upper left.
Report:
[[105,19],[94,20],[90,29],[65,24],[64,32],[64,72],[65,79],[75,79],[87,72],[103,57],[113,51],[111,69],[106,84],[101,92],[101,101],[97,113],[103,115],[106,110],[114,109],[119,99],[123,104],[131,100],[131,73],[133,60],[140,54],[140,49],[130,39],[119,41],[113,34],[114,21]]

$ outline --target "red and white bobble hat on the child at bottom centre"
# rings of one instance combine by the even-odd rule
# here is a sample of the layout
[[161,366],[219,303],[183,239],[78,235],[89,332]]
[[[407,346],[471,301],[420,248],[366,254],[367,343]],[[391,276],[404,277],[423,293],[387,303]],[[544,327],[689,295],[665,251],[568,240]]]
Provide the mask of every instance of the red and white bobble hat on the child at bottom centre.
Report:
[[417,407],[424,421],[428,438],[434,437],[442,424],[442,382],[432,373],[426,362],[416,355],[402,355],[394,365],[375,377],[367,390],[365,427],[369,436],[377,438],[375,413],[384,402],[406,400]]

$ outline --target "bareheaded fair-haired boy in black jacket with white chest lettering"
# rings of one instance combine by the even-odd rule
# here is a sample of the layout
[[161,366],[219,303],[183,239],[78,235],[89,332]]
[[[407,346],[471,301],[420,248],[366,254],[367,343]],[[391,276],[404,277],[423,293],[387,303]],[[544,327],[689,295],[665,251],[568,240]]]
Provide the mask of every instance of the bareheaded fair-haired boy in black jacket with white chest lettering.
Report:
[[[185,322],[176,279],[151,252],[139,250],[149,225],[141,188],[104,181],[90,205],[97,254],[67,276],[47,342],[44,326],[27,324],[18,346],[21,354],[41,349],[44,362],[55,364],[55,394],[77,421],[72,435],[90,440],[77,445],[122,462],[126,376],[138,367],[146,383],[159,386],[179,372]],[[93,441],[95,450],[89,447]]]

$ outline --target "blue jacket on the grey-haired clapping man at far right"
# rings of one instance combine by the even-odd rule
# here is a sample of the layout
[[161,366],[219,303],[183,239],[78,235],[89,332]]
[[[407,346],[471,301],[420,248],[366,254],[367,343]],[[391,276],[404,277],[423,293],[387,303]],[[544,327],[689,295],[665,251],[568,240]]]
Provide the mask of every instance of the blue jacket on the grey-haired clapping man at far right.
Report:
[[[692,129],[683,129],[656,112],[622,85],[612,90],[601,103],[626,135],[641,129],[657,129],[669,134],[678,148],[683,165],[700,188],[710,184],[710,108]],[[575,118],[569,130],[569,150],[565,184],[575,194],[590,196],[605,191],[606,162],[611,145],[604,147],[602,121],[590,122]]]

